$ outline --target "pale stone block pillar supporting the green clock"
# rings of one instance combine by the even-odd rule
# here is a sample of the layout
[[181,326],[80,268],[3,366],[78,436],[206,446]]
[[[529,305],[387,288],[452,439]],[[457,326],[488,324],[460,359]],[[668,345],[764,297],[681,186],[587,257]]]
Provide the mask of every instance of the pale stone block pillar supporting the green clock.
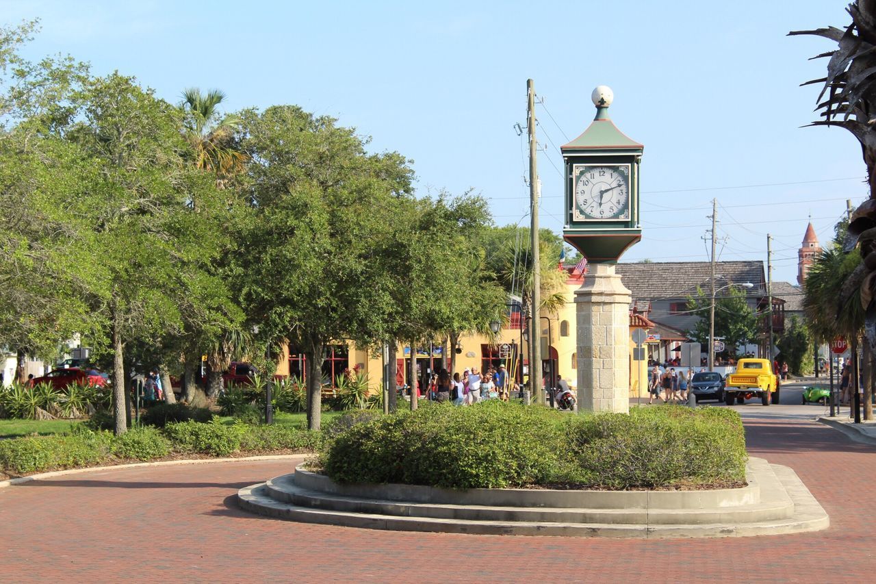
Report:
[[614,264],[590,264],[575,292],[579,411],[630,411],[631,301]]

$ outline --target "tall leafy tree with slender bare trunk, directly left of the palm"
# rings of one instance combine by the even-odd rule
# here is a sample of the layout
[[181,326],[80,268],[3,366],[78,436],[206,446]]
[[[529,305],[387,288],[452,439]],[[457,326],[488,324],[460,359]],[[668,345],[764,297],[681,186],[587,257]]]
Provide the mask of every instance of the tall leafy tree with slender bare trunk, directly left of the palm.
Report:
[[152,91],[113,74],[89,83],[64,132],[96,169],[73,214],[95,266],[89,303],[109,325],[117,434],[125,431],[125,342],[180,331],[174,299],[189,286],[183,278],[215,258],[223,237],[217,223],[226,201],[215,175],[184,163],[180,118]]

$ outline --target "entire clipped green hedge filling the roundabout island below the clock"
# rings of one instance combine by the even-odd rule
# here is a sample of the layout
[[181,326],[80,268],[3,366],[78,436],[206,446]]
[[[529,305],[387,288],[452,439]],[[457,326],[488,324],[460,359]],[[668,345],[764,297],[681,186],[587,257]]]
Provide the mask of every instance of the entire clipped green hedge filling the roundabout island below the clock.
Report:
[[320,454],[336,481],[445,488],[719,486],[745,481],[747,458],[733,410],[569,416],[498,401],[378,417],[327,440]]

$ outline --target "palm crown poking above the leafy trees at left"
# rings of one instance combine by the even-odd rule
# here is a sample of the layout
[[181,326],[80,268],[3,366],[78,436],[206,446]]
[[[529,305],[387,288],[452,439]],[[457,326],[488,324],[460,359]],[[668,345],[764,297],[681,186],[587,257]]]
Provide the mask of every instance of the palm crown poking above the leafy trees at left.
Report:
[[229,114],[219,118],[218,106],[225,99],[219,89],[201,93],[201,89],[189,88],[182,92],[180,109],[186,113],[184,132],[188,143],[194,149],[194,166],[201,170],[215,172],[223,180],[240,171],[246,155],[232,147],[232,139],[241,125],[241,118]]

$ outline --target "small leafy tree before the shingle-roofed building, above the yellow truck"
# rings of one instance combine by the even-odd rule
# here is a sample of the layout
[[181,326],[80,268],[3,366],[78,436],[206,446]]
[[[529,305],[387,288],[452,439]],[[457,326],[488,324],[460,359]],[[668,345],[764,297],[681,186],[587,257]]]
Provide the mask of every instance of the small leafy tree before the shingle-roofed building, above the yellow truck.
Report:
[[[688,337],[700,345],[709,346],[709,318],[711,297],[703,288],[696,288],[696,296],[688,297],[688,310],[700,317]],[[728,288],[724,297],[715,301],[715,337],[724,338],[727,347],[738,347],[757,338],[759,318],[745,302],[745,292]]]

